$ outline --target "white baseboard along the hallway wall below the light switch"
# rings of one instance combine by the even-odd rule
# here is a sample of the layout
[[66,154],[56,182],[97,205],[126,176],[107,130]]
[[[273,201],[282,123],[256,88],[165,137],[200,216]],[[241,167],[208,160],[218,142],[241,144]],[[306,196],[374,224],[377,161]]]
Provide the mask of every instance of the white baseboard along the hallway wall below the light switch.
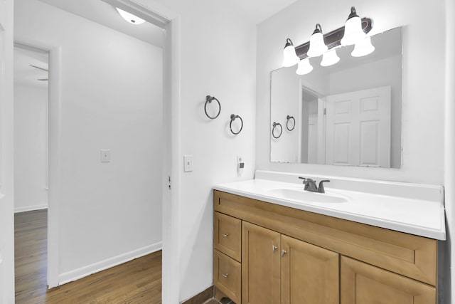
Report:
[[134,260],[134,258],[140,258],[141,256],[146,256],[149,253],[154,253],[155,251],[161,250],[162,246],[163,246],[162,242],[154,243],[149,246],[136,249],[134,251],[129,251],[127,253],[120,254],[119,256],[107,258],[104,261],[92,263],[90,265],[77,268],[73,271],[68,271],[66,273],[61,273],[58,276],[59,285],[79,280],[80,278],[90,276],[93,273],[104,271],[107,268],[111,268],[122,263],[132,261]]

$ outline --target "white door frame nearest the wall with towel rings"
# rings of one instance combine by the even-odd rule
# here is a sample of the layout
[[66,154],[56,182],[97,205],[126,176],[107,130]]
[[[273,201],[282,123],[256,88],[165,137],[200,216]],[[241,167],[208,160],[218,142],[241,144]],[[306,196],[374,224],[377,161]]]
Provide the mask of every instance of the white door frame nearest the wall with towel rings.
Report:
[[154,0],[102,0],[164,28],[162,155],[162,303],[179,303],[180,261],[178,244],[180,175],[180,49],[181,19]]

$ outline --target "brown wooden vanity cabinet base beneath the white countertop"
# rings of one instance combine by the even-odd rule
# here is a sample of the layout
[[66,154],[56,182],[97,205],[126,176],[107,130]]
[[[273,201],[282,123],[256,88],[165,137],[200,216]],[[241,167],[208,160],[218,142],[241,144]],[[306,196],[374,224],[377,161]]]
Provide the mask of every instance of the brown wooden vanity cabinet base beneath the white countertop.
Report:
[[[214,209],[214,267],[219,249],[241,269],[232,295],[215,268],[215,295],[237,304],[437,303],[436,240],[216,190]],[[237,227],[237,260],[237,249],[217,245],[221,226]]]

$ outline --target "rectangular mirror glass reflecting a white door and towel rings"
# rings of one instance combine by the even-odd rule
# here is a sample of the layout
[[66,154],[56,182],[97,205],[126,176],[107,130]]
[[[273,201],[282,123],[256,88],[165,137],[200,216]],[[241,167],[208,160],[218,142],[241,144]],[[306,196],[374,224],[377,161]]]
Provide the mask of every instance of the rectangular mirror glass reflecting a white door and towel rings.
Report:
[[[402,28],[371,42],[375,51],[360,58],[351,56],[354,46],[337,48],[336,65],[310,58],[306,75],[295,66],[272,71],[272,162],[400,168]],[[278,138],[272,122],[284,126]]]

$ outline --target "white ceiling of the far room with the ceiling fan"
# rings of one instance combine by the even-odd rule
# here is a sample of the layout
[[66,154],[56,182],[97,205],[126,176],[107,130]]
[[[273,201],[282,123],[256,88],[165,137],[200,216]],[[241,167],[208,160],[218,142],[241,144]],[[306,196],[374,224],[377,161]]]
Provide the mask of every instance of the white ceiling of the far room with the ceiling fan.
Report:
[[46,88],[48,82],[38,79],[48,78],[48,72],[33,68],[31,65],[48,69],[48,58],[48,53],[14,47],[14,83]]

